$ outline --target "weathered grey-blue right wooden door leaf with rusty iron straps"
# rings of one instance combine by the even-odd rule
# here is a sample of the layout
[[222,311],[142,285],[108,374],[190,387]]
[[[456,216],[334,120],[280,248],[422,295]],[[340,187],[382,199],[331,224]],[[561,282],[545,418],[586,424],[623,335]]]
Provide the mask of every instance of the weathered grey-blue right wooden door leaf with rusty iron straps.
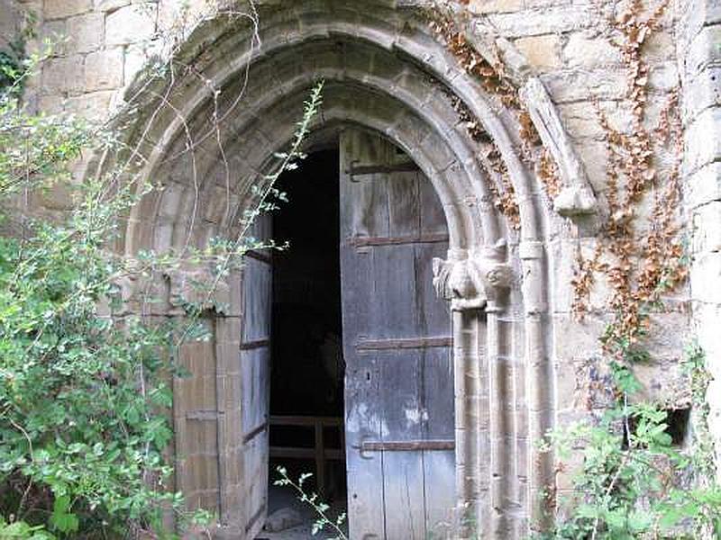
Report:
[[443,208],[379,136],[341,135],[341,278],[351,538],[443,536],[454,500],[449,307],[433,289]]

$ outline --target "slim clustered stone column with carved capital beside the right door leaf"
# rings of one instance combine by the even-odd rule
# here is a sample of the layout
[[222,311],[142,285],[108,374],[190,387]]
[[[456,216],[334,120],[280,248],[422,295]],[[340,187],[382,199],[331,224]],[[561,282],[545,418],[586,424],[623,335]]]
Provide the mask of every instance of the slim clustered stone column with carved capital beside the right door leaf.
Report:
[[[506,244],[450,250],[434,259],[434,287],[451,302],[456,393],[457,501],[460,536],[502,536],[502,472],[509,456],[500,427],[497,311],[510,287]],[[484,366],[488,366],[484,369]],[[488,464],[483,458],[490,456]],[[488,500],[488,497],[490,498]],[[475,530],[472,530],[475,529]]]

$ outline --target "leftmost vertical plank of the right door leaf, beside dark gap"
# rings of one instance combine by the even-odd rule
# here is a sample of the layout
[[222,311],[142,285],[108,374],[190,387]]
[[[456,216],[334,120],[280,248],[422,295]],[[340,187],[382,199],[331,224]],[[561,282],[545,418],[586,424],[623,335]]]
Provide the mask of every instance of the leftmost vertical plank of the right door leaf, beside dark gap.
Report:
[[[363,455],[365,440],[379,440],[379,373],[375,356],[360,357],[354,344],[370,335],[372,252],[356,250],[352,238],[388,229],[387,204],[373,204],[374,184],[351,182],[347,171],[361,157],[360,134],[343,131],[341,147],[341,282],[345,374],[345,447],[348,481],[348,524],[351,538],[385,538],[383,463],[381,455]],[[378,207],[378,217],[373,211]],[[359,210],[360,209],[360,210]],[[385,215],[385,219],[384,219]],[[376,217],[374,217],[376,216]]]

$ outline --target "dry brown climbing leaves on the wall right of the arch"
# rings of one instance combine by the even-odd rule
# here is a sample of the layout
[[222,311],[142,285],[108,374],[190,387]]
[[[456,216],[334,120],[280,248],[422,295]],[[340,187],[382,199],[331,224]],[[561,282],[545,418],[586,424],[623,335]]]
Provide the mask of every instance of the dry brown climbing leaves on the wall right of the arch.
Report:
[[[647,311],[657,306],[662,294],[680,284],[686,277],[684,250],[679,240],[679,166],[682,132],[678,115],[678,93],[673,92],[664,108],[658,126],[644,126],[648,105],[649,67],[643,60],[643,43],[657,30],[668,0],[643,19],[643,6],[633,0],[619,14],[614,27],[619,32],[625,67],[628,73],[628,104],[633,118],[632,130],[623,133],[611,127],[597,105],[598,118],[605,132],[607,163],[607,202],[609,218],[598,239],[594,256],[581,260],[576,278],[574,311],[588,310],[587,300],[593,286],[593,275],[603,273],[611,288],[608,307],[615,314],[608,329],[606,343],[638,343],[648,327]],[[660,173],[654,162],[662,152],[671,151],[674,166]],[[639,223],[639,209],[653,190],[655,202],[651,215]],[[602,257],[604,254],[607,257]],[[600,263],[601,258],[610,262]]]

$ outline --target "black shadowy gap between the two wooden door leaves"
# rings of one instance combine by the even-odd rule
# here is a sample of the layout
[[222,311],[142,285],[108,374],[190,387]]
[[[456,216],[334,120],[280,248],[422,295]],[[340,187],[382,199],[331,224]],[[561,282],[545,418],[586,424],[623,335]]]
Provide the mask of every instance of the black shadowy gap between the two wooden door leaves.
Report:
[[278,466],[294,480],[311,473],[308,495],[333,518],[345,512],[338,148],[310,154],[277,187],[287,202],[273,215],[273,238],[288,247],[273,254],[270,530],[258,540],[324,538],[311,535],[313,509],[274,481]]

